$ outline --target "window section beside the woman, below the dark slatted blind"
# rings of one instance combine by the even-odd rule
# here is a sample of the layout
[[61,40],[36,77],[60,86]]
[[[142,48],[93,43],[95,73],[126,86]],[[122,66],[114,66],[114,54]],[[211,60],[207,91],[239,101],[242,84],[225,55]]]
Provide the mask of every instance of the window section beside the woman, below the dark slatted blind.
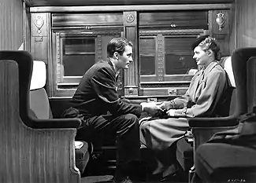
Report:
[[154,35],[154,31],[140,33],[140,95],[176,96],[185,93],[198,69],[191,44],[200,31],[157,31],[158,35]]

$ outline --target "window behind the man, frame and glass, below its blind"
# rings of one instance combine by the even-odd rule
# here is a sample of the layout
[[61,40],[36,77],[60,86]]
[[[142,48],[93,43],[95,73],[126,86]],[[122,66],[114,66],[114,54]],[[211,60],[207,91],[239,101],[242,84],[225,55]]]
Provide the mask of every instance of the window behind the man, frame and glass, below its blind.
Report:
[[60,31],[53,33],[50,92],[53,97],[71,97],[83,74],[98,60],[106,60],[106,45],[121,31]]

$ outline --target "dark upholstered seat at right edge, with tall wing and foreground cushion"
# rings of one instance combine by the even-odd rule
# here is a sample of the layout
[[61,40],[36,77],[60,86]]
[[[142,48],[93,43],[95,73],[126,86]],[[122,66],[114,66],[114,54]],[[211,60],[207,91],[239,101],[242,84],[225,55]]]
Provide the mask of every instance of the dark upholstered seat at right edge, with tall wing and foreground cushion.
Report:
[[[232,54],[232,67],[236,79],[237,110],[236,115],[256,112],[255,107],[255,71],[256,48],[236,49]],[[217,120],[216,123],[190,122],[192,128],[199,126],[218,128],[224,125],[232,125],[237,121],[236,115],[228,117],[228,121]],[[245,115],[247,116],[247,115]],[[255,124],[254,115],[239,123],[236,130],[229,132],[233,140],[210,141],[199,145],[195,153],[195,173],[200,182],[255,182],[256,158],[255,158]],[[244,116],[243,116],[244,117]],[[246,127],[247,126],[247,127]],[[243,131],[250,134],[243,134]],[[198,134],[200,135],[200,134]],[[234,136],[236,135],[236,136]],[[222,141],[222,142],[221,142]]]

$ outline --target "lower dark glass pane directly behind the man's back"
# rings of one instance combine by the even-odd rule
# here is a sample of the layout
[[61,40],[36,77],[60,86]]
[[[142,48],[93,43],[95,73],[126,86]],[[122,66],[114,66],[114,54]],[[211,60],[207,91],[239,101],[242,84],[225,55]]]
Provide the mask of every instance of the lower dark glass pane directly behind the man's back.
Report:
[[95,64],[95,54],[64,55],[62,59],[65,76],[81,76]]

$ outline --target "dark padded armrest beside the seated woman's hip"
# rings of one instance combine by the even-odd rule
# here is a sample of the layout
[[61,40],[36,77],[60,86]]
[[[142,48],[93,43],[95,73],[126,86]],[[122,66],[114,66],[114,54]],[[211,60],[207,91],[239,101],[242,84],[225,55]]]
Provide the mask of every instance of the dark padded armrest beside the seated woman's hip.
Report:
[[187,122],[191,128],[195,127],[221,127],[237,126],[239,121],[236,116],[218,117],[218,118],[190,118]]

